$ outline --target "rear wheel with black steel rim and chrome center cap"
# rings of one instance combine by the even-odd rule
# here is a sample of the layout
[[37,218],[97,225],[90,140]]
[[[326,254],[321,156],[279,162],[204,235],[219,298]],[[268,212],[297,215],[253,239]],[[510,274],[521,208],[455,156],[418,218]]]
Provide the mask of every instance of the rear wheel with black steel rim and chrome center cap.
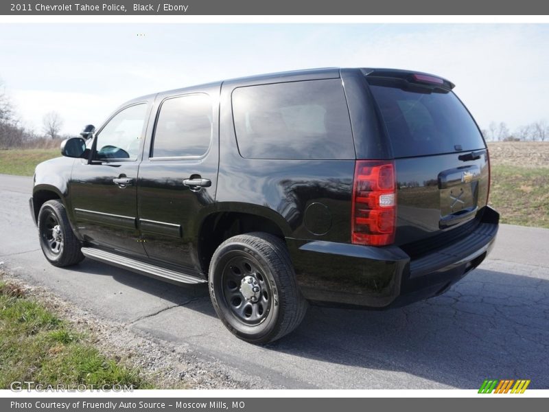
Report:
[[238,235],[220,244],[211,258],[209,290],[226,328],[248,343],[280,339],[307,312],[288,249],[268,233]]

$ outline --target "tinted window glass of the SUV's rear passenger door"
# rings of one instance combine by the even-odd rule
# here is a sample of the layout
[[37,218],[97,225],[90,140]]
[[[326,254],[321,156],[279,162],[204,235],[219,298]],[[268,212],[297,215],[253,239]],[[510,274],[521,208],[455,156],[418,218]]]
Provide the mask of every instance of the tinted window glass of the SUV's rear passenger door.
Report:
[[165,100],[154,130],[153,157],[202,156],[211,140],[212,106],[208,95]]

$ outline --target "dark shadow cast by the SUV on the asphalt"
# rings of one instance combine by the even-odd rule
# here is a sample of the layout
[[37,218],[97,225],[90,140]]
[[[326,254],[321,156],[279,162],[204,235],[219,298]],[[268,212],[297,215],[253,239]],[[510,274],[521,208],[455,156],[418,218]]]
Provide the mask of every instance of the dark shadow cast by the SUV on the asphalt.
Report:
[[[78,271],[108,275],[144,293],[216,316],[205,284],[175,286],[89,260]],[[463,389],[478,389],[487,378],[530,379],[530,388],[546,389],[548,318],[548,280],[476,269],[444,295],[405,308],[369,311],[311,306],[301,326],[279,341],[250,348],[233,339],[231,345],[257,354],[270,351],[274,356],[323,361],[327,368],[344,365],[365,373],[367,369],[404,372]],[[408,383],[414,388],[412,379]],[[382,385],[369,382],[364,389]]]

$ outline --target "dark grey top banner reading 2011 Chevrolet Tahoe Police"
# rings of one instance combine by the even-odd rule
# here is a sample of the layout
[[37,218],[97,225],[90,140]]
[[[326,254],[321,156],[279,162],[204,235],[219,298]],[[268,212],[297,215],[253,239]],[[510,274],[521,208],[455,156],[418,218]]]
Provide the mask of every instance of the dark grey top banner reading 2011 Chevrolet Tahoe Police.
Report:
[[0,3],[8,15],[543,15],[549,2],[522,0],[42,0]]

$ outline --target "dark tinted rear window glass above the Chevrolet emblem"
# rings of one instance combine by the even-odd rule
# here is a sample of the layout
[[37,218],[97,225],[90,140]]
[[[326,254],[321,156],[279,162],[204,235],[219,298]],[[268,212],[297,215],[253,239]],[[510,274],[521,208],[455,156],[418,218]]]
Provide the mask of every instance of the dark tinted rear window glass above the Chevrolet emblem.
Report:
[[370,89],[395,157],[484,148],[474,120],[451,91],[408,91],[383,84],[371,84]]

